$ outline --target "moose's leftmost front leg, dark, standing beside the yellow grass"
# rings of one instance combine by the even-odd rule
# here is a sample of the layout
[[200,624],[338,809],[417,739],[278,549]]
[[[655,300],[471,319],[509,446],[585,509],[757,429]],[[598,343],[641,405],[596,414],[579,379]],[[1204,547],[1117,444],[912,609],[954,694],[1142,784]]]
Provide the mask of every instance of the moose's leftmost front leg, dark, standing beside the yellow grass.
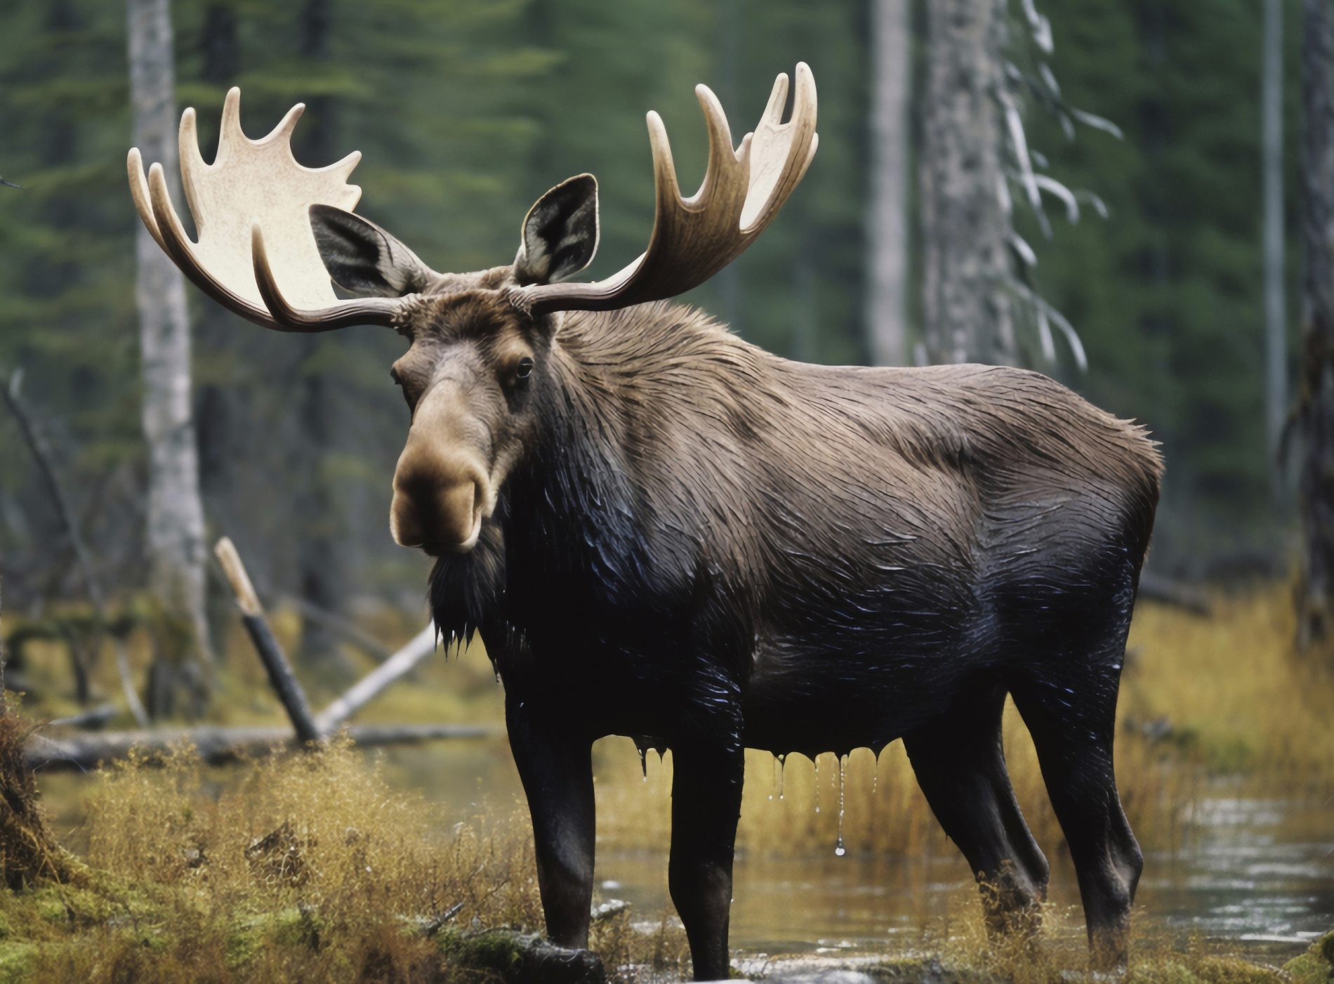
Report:
[[587,947],[592,909],[592,742],[506,701],[510,748],[532,814],[547,936]]

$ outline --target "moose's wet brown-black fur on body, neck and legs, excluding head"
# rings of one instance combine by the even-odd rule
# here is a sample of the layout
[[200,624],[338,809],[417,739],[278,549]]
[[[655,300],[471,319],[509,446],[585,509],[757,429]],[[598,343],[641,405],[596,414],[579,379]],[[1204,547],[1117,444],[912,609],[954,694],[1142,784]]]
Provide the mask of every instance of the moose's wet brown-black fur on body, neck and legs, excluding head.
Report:
[[[552,935],[587,933],[587,909],[552,923],[552,907],[583,905],[591,833],[570,820],[582,800],[539,786],[574,782],[604,734],[674,749],[676,800],[718,828],[675,818],[696,858],[678,867],[674,841],[696,973],[726,969],[718,872],[730,885],[743,745],[903,737],[947,833],[1005,881],[1006,921],[1046,884],[999,760],[1009,692],[1090,937],[1123,959],[1139,857],[1111,729],[1162,470],[1145,431],[1037,373],[795,363],[672,304],[567,314],[539,371],[540,433],[475,550],[438,561],[431,603],[446,636],[482,633],[504,678],[535,822],[555,824],[538,824]],[[546,752],[522,736],[558,733],[570,776],[526,770]]]

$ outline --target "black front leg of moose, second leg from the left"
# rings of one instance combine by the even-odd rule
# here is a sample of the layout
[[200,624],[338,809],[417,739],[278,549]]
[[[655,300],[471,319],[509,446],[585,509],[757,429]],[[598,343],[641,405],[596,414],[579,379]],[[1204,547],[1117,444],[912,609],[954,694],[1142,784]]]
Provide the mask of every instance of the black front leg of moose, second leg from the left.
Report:
[[728,746],[672,746],[671,864],[667,884],[690,940],[695,980],[728,975],[727,920],[732,846],[742,808],[744,758]]

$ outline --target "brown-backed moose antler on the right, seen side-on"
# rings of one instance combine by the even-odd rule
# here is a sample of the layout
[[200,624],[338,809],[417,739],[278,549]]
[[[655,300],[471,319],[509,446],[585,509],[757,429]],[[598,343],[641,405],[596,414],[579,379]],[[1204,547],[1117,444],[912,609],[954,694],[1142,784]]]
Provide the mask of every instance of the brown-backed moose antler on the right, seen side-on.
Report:
[[783,207],[810,167],[815,134],[815,77],[796,63],[792,116],[783,123],[787,75],[774,81],[764,115],[732,150],[732,136],[718,97],[707,85],[695,95],[708,126],[708,170],[691,198],[676,183],[667,130],[648,113],[656,204],[648,248],[620,272],[595,283],[552,283],[514,292],[534,314],[607,311],[662,300],[698,287],[736,259]]

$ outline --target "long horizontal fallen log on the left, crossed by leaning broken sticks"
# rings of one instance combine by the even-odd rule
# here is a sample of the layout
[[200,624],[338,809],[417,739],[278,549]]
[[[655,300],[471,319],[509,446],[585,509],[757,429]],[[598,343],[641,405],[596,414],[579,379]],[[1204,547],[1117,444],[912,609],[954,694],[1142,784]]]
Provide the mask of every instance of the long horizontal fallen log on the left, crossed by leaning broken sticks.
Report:
[[[487,738],[499,734],[490,725],[355,725],[347,729],[352,742],[363,748],[404,745],[448,738]],[[33,734],[24,749],[24,764],[43,772],[85,772],[101,762],[125,758],[135,749],[164,753],[181,745],[192,746],[201,761],[223,765],[241,758],[257,758],[304,745],[289,728],[155,728],[151,730],[100,732],[52,738]]]

